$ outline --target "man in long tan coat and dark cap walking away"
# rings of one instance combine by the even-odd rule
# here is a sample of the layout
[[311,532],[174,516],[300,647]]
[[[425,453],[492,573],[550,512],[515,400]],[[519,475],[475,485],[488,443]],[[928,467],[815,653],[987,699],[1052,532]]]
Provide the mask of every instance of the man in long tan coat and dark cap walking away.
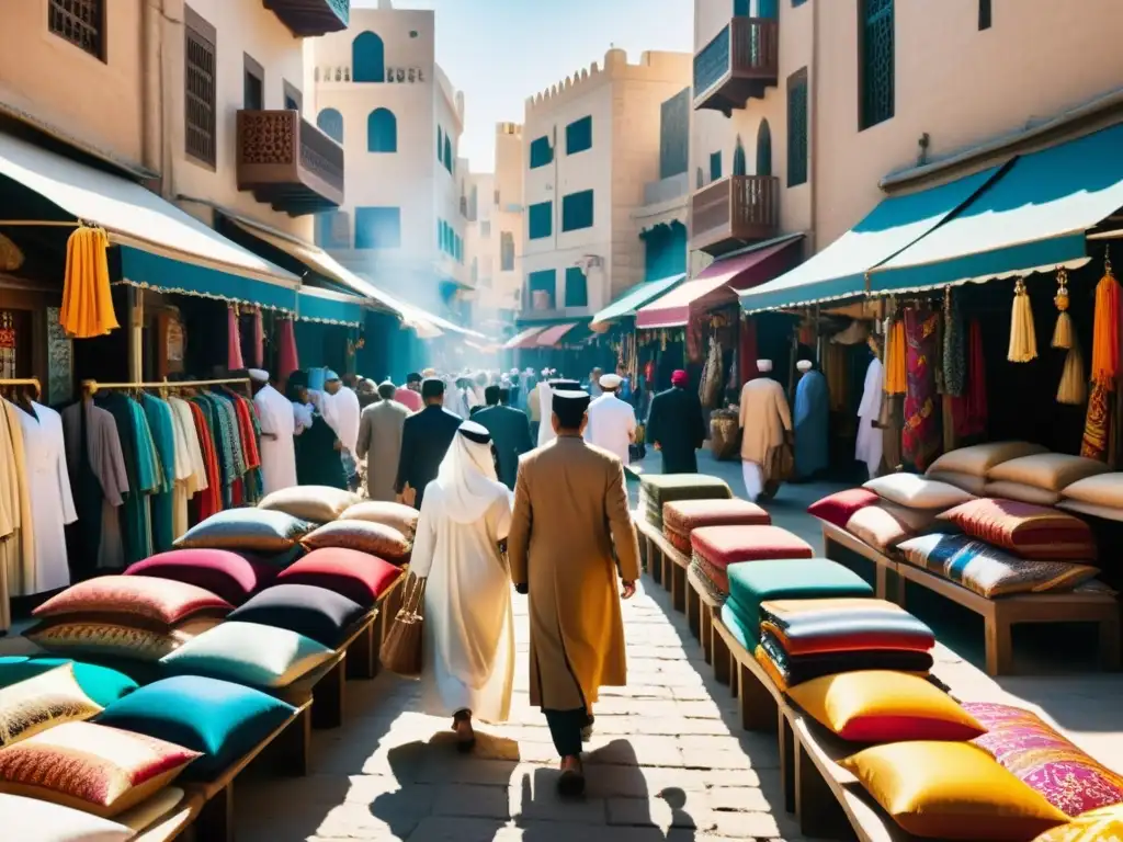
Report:
[[582,438],[588,395],[555,392],[557,438],[522,457],[508,537],[511,579],[530,603],[530,703],[546,714],[562,756],[559,790],[585,788],[582,730],[601,687],[628,681],[617,596],[636,593],[639,542],[623,466]]

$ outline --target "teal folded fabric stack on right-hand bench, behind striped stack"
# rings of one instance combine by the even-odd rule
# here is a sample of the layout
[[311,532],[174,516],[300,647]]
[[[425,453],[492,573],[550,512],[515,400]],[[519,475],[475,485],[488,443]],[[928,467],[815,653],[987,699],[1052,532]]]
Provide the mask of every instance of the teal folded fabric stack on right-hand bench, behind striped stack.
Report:
[[[820,600],[874,596],[874,588],[852,570],[829,558],[788,558],[730,565],[729,611],[741,621],[746,648],[760,639],[760,603],[768,600]],[[727,612],[722,612],[724,616]]]

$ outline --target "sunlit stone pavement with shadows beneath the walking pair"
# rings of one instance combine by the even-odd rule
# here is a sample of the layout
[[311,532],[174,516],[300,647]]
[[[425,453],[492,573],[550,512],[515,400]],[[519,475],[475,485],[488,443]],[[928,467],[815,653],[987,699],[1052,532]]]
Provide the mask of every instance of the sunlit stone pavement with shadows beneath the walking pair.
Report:
[[626,604],[629,686],[605,688],[586,797],[555,794],[557,758],[528,703],[526,602],[511,722],[480,725],[460,757],[450,721],[423,716],[418,686],[382,675],[347,686],[347,723],[313,735],[307,778],[239,782],[241,842],[705,842],[796,840],[784,813],[776,739],[740,731],[734,699],[685,619],[649,579]]

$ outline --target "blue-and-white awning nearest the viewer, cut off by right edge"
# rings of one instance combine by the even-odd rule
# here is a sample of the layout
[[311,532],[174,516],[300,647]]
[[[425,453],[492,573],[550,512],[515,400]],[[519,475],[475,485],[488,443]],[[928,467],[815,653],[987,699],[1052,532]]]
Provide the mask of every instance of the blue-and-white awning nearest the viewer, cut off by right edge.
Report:
[[874,293],[1021,276],[1088,259],[1123,208],[1123,125],[1019,157],[951,219],[871,273]]

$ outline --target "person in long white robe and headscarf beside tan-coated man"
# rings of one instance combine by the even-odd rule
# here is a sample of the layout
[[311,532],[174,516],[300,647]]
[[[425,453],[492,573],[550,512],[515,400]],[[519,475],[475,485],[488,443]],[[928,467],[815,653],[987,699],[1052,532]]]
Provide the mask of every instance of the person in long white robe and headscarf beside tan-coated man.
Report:
[[410,564],[426,579],[424,710],[453,716],[460,751],[475,744],[473,717],[504,722],[511,710],[514,622],[500,550],[510,528],[491,436],[466,421],[426,488]]

